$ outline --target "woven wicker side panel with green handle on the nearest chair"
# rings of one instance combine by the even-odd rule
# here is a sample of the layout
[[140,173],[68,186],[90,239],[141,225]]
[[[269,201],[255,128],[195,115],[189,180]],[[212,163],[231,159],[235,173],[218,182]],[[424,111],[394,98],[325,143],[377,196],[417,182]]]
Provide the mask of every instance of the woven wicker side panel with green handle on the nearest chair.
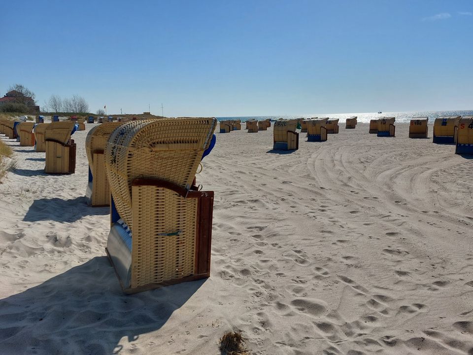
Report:
[[133,186],[132,196],[131,287],[192,276],[197,199],[185,199],[172,190],[150,185]]

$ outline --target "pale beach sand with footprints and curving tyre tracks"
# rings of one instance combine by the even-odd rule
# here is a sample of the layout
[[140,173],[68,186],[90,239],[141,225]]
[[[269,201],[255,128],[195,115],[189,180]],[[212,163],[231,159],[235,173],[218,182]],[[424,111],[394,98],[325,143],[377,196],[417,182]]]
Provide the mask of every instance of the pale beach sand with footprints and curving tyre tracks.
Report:
[[[76,173],[16,151],[0,185],[0,354],[473,354],[473,160],[454,146],[340,126],[274,153],[272,128],[217,134],[211,278],[126,296],[105,257],[107,208]],[[432,137],[432,127],[429,129]]]

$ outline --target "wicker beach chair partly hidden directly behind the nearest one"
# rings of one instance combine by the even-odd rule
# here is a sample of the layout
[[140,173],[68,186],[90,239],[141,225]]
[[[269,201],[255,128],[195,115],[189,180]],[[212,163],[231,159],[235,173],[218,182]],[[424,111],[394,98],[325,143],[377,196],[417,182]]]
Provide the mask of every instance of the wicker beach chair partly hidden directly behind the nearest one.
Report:
[[105,122],[92,128],[85,140],[89,161],[89,182],[85,197],[93,207],[110,206],[110,185],[105,171],[103,152],[112,132],[124,122]]

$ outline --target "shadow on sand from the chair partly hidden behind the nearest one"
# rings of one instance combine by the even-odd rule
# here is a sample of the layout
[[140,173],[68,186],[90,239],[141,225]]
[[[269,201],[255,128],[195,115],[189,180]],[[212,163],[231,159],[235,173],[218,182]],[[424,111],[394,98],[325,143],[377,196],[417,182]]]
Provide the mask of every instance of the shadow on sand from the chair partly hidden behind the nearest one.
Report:
[[86,199],[83,196],[69,200],[43,198],[34,200],[23,220],[28,222],[41,220],[75,222],[87,215],[106,215],[109,212],[108,208],[92,208],[87,206]]

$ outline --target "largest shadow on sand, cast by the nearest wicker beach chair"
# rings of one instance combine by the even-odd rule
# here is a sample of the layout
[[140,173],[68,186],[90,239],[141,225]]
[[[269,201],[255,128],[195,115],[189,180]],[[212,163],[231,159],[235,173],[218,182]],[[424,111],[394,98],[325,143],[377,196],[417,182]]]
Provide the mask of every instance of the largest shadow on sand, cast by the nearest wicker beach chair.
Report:
[[[205,280],[124,295],[105,256],[0,300],[0,354],[116,354],[159,330]],[[153,354],[160,354],[156,345]]]

